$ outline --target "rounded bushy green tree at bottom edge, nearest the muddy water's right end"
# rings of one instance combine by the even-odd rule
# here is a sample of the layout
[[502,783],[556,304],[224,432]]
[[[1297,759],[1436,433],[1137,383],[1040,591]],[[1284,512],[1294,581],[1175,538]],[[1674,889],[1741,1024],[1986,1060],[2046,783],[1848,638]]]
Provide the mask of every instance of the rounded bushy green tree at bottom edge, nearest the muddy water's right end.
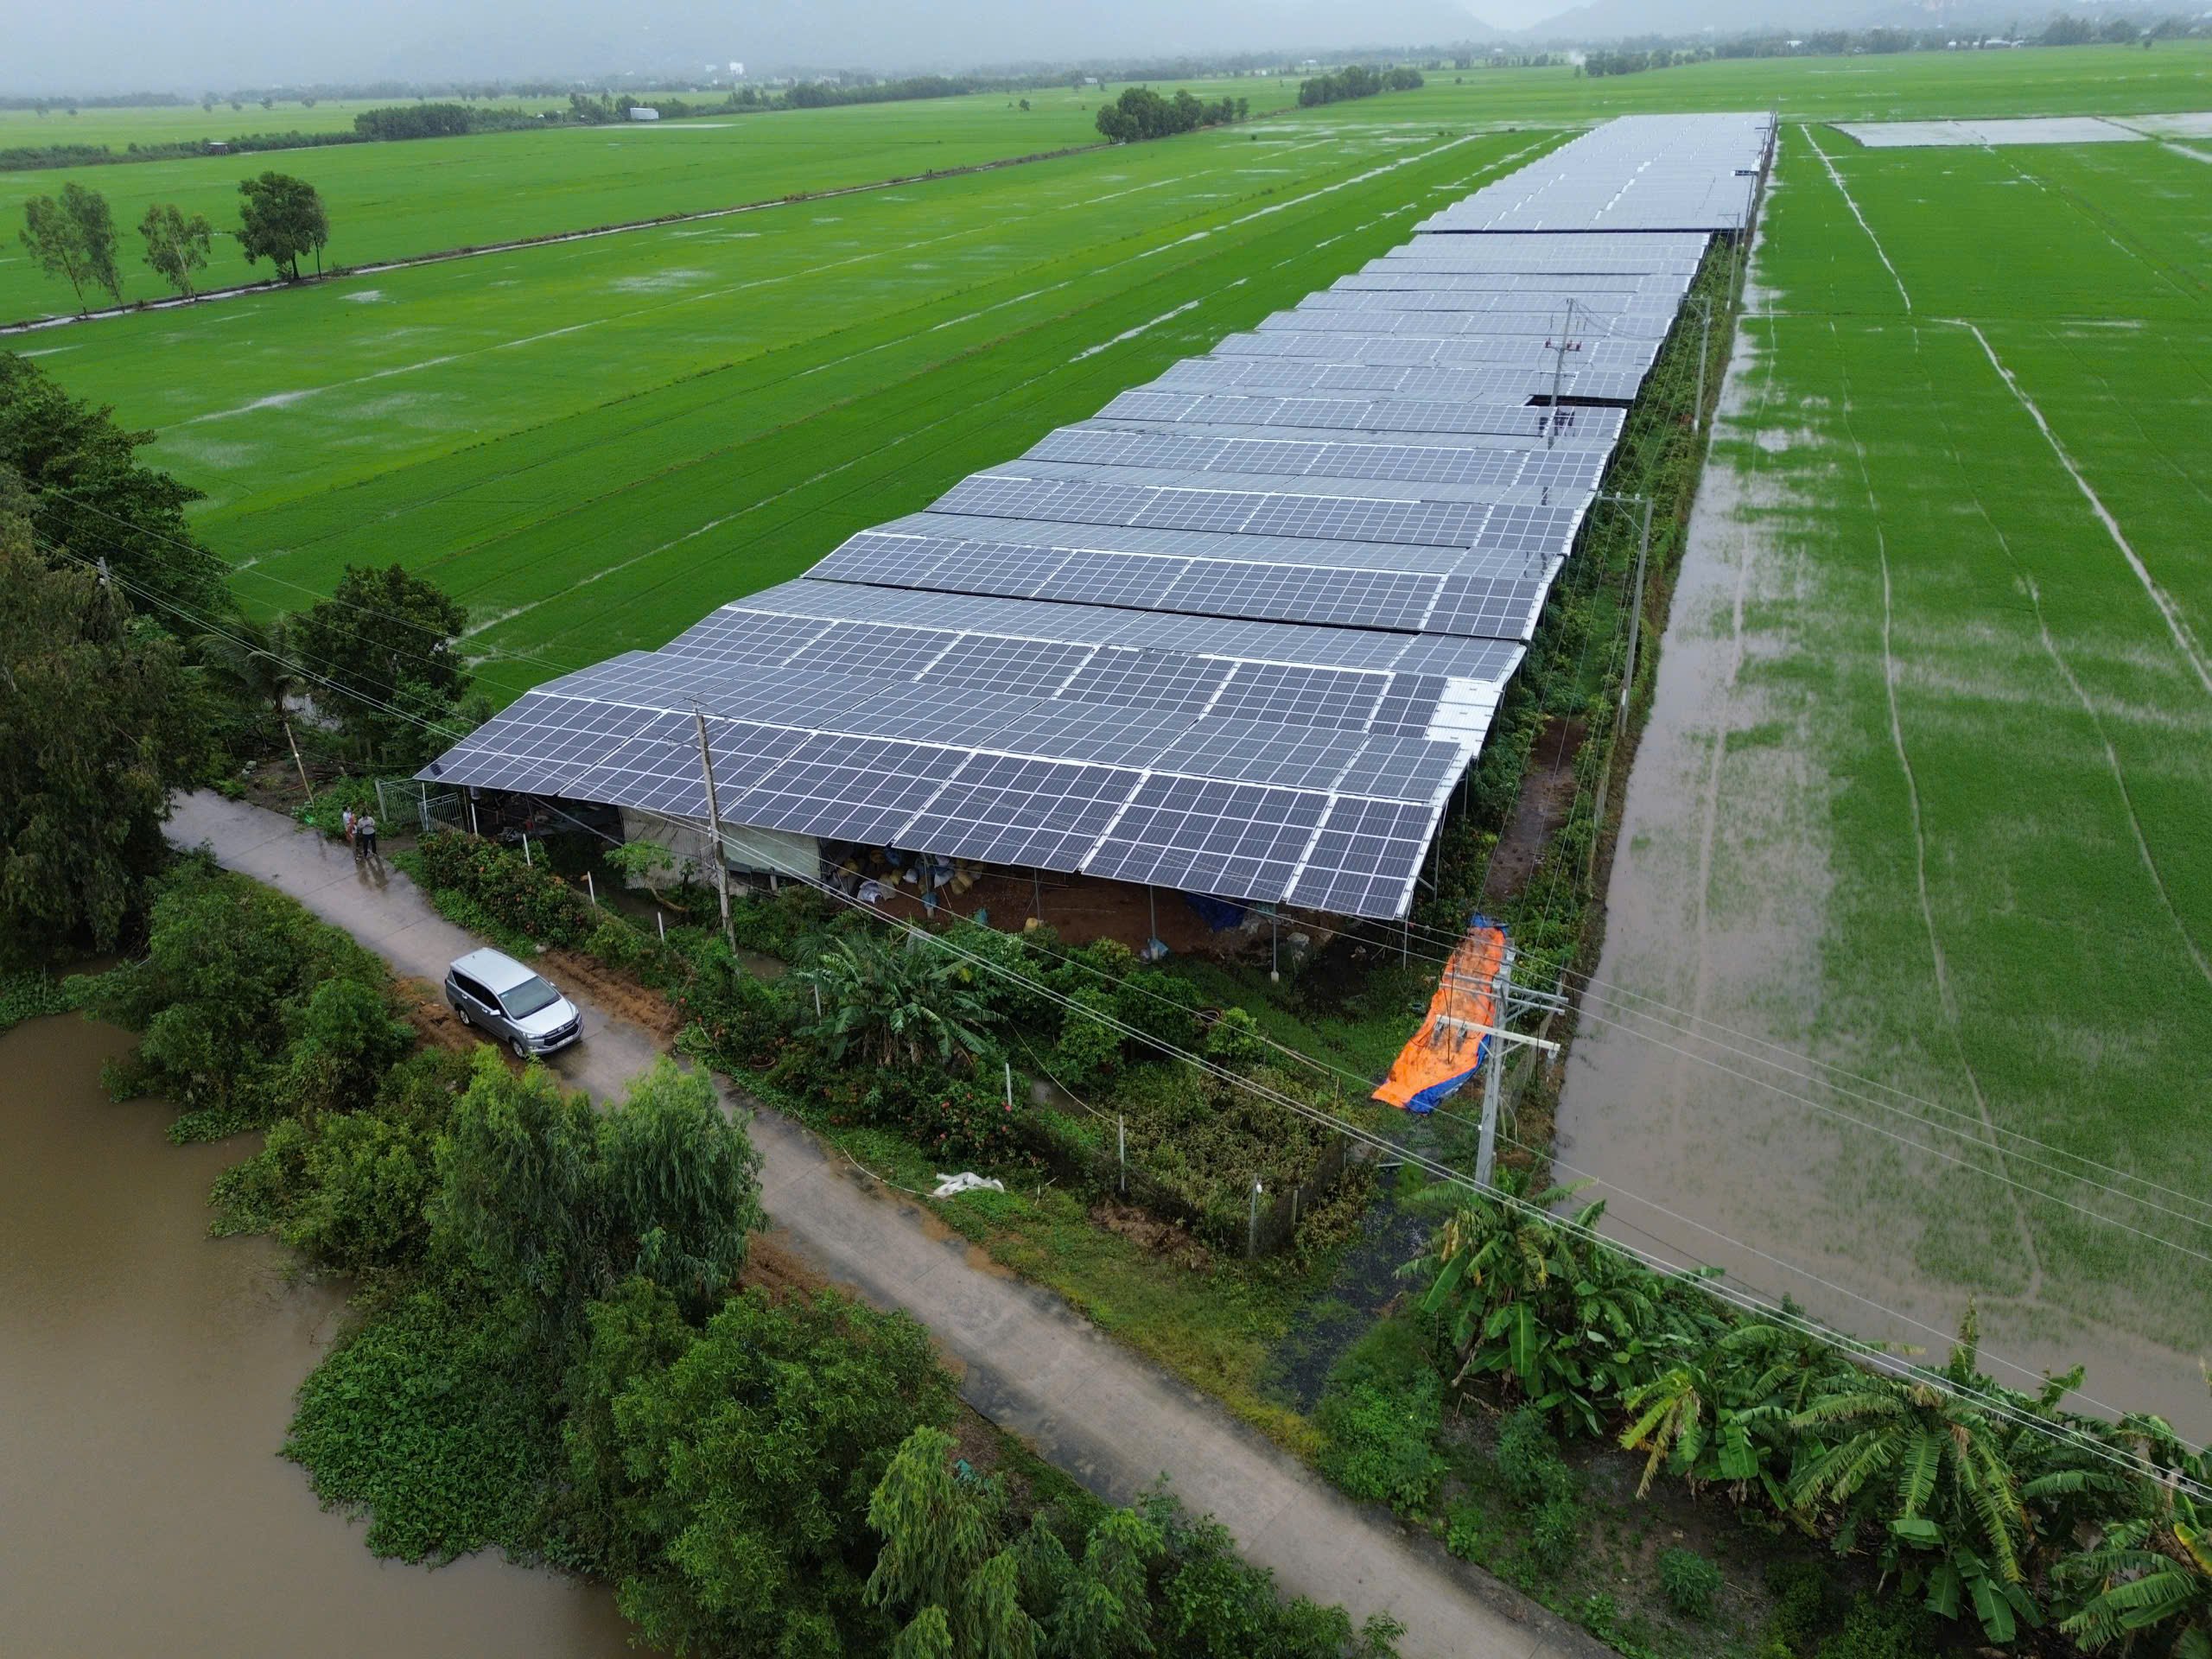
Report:
[[874,1646],[887,1632],[863,1590],[869,1495],[898,1444],[951,1405],[929,1334],[905,1314],[836,1292],[726,1303],[615,1400],[646,1562],[624,1577],[622,1610],[679,1655],[838,1652],[838,1630]]

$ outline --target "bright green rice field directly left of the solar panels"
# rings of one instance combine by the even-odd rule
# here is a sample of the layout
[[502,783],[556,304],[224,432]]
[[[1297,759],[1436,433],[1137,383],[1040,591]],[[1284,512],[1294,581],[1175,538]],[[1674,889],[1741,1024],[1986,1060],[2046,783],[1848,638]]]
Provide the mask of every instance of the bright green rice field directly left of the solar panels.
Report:
[[471,606],[504,701],[794,575],[1548,142],[1199,135],[24,345],[161,434],[250,604],[400,560]]

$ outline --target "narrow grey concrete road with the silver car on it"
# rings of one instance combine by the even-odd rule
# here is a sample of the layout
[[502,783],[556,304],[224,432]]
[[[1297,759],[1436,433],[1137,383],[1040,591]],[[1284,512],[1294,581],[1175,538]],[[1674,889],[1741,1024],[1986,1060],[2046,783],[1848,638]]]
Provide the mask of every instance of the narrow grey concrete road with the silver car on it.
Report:
[[[480,945],[440,918],[396,869],[365,867],[263,807],[215,794],[177,803],[168,838],[206,845],[378,951],[396,973],[442,980]],[[659,1053],[641,1026],[588,1002],[584,1042],[553,1071],[619,1095]],[[1051,1292],[982,1256],[920,1206],[887,1192],[812,1135],[745,1102],[761,1150],[761,1199],[783,1243],[878,1307],[922,1321],[962,1371],[960,1391],[1002,1429],[1110,1502],[1159,1473],[1212,1511],[1285,1590],[1340,1601],[1354,1619],[1391,1613],[1407,1659],[1597,1659],[1610,1650],[1498,1579],[1451,1559],[1385,1511],[1365,1509],[1221,1407],[1099,1334]]]

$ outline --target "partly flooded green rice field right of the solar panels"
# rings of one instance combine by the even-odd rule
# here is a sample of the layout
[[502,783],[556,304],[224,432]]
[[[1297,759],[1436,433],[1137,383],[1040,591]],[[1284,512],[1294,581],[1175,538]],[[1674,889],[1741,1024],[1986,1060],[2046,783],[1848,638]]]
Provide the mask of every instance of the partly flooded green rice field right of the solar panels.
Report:
[[[1562,1113],[1606,1179],[1710,1228],[1646,1208],[1652,1232],[1761,1287],[1933,1347],[1975,1298],[1989,1349],[2192,1425],[2208,274],[2212,168],[2177,146],[1787,131],[1734,511],[1661,659],[1705,708],[1661,681],[1599,967],[1683,1011],[1677,1057],[1655,1020],[1601,1026]],[[1756,1037],[1849,1075],[1783,1077]]]

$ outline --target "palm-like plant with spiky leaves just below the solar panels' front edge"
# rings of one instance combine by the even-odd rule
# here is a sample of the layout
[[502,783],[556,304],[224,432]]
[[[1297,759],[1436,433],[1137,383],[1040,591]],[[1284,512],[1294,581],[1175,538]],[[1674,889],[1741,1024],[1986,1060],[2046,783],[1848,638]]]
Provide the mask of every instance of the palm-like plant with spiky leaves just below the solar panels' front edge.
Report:
[[902,947],[838,938],[794,978],[821,991],[810,1026],[832,1060],[860,1053],[874,1066],[967,1064],[984,1051],[991,1009],[964,964],[927,940]]

